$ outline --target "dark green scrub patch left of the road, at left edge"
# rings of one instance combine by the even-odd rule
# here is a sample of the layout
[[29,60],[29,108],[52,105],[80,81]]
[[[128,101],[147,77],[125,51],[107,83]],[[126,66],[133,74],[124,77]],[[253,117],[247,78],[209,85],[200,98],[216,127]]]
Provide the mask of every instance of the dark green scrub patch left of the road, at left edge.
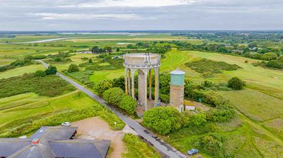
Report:
[[0,98],[35,92],[38,95],[54,97],[71,92],[75,87],[57,75],[37,77],[33,73],[0,80]]

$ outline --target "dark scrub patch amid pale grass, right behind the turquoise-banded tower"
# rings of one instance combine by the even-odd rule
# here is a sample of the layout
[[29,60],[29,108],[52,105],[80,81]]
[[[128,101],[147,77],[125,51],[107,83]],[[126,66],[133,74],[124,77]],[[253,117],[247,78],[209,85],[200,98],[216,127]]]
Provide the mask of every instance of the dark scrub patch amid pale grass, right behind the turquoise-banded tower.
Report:
[[212,61],[209,59],[201,59],[200,61],[192,61],[185,63],[185,66],[192,68],[198,73],[221,73],[221,71],[236,71],[240,66],[236,64],[225,63],[224,61]]

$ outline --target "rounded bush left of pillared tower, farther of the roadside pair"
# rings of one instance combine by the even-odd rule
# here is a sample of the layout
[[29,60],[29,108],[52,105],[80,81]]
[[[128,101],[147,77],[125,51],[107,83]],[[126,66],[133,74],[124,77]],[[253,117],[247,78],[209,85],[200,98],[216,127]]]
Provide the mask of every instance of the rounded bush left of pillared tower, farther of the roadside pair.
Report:
[[120,87],[112,87],[103,92],[103,99],[112,105],[119,104],[124,96],[125,93]]

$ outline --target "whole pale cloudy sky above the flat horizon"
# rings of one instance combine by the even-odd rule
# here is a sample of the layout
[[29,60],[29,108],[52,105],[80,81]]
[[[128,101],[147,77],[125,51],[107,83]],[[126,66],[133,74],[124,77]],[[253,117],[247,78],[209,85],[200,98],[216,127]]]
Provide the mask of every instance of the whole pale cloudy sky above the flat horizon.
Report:
[[283,0],[0,0],[0,30],[283,30]]

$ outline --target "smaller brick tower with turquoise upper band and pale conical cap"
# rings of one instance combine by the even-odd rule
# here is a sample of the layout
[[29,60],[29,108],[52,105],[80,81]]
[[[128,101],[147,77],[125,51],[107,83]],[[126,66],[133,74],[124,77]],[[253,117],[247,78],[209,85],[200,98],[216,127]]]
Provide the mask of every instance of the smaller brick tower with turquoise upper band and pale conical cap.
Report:
[[177,68],[171,71],[170,75],[170,105],[182,112],[184,111],[185,72]]

